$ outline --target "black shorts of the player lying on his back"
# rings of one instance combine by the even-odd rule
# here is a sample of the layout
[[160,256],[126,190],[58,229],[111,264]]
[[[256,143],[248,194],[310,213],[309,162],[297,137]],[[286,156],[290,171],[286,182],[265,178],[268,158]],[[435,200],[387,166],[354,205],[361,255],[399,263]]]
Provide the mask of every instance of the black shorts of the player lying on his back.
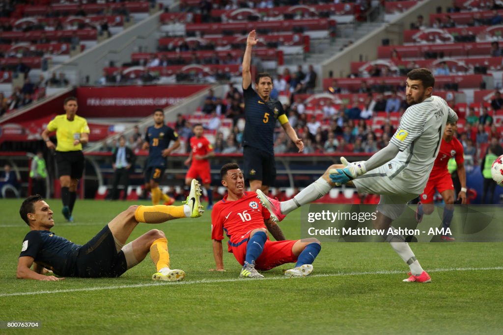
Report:
[[82,278],[119,277],[127,270],[124,252],[117,252],[108,225],[80,247],[76,265],[78,276]]

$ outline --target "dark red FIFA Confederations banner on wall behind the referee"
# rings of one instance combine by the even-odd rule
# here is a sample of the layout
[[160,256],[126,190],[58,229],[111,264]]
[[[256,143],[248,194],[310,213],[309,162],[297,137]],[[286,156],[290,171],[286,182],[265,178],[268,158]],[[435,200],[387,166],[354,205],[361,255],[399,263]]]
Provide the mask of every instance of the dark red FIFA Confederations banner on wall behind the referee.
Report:
[[78,115],[85,118],[148,116],[207,89],[208,85],[78,87]]

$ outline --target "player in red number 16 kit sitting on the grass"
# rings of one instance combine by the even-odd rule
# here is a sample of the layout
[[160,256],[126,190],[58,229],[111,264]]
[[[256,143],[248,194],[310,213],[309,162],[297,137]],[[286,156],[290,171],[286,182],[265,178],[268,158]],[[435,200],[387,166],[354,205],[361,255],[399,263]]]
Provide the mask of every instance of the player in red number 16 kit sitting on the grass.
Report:
[[[297,262],[285,276],[309,275],[314,259],[321,250],[317,239],[270,241],[265,224],[277,227],[271,215],[257,201],[257,193],[244,191],[244,178],[235,163],[225,164],[220,170],[222,185],[227,195],[213,206],[211,238],[217,271],[223,271],[223,232],[229,238],[228,252],[243,266],[240,278],[262,279],[259,270],[270,270],[285,263]],[[256,269],[257,268],[257,269]]]

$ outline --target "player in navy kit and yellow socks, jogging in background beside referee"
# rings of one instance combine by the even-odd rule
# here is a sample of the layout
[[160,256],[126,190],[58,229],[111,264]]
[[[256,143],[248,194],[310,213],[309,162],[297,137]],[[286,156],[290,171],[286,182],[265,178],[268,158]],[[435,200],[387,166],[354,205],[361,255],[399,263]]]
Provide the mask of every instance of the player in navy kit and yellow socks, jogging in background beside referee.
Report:
[[[153,114],[154,125],[148,127],[145,134],[145,142],[143,149],[148,150],[148,161],[145,168],[145,182],[150,183],[150,192],[152,193],[152,204],[157,205],[161,197],[164,197],[164,204],[170,205],[174,199],[170,199],[162,194],[159,188],[159,181],[162,179],[164,170],[166,169],[166,157],[173,150],[180,147],[180,139],[178,134],[164,125],[164,111],[155,109]],[[175,141],[175,144],[170,147],[170,142]]]

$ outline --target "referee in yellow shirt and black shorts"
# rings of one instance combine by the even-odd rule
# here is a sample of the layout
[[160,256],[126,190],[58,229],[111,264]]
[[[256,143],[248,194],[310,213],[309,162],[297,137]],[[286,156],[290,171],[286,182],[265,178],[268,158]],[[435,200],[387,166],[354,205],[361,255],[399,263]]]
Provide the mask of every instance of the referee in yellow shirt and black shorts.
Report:
[[[72,222],[71,212],[77,198],[78,179],[84,170],[84,155],[82,144],[89,141],[89,127],[86,119],[76,115],[77,99],[67,97],[63,104],[65,114],[58,115],[42,132],[42,139],[47,148],[56,149],[56,163],[58,165],[59,183],[61,185],[61,200],[63,215]],[[49,139],[49,134],[56,132],[57,146]]]

